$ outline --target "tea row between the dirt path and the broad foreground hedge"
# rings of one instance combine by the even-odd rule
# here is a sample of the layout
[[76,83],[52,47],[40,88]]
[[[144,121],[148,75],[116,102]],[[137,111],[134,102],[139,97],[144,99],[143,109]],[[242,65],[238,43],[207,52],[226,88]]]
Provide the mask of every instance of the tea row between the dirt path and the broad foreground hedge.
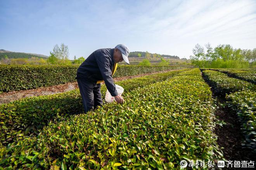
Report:
[[[130,80],[117,82],[125,88],[125,92],[144,87],[151,83],[166,80],[189,69],[157,73]],[[102,96],[106,94],[106,86],[102,85]],[[38,133],[38,129],[50,120],[62,119],[74,113],[82,113],[83,104],[79,89],[38,97],[28,97],[0,105],[0,146],[7,145],[23,135]]]

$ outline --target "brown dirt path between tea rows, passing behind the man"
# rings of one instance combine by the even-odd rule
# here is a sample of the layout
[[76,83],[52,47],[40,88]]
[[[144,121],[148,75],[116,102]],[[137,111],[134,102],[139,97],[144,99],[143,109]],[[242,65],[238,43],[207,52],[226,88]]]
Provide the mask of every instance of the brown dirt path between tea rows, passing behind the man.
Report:
[[[146,73],[141,75],[134,75],[134,76],[123,76],[123,77],[116,77],[113,78],[114,82],[118,82],[121,80],[127,80],[131,78],[141,77],[145,75],[152,75],[156,73],[165,73],[168,71],[174,71],[174,70],[165,70],[165,71],[157,71],[152,73]],[[70,90],[74,90],[78,88],[77,82],[71,82],[71,83],[65,83],[61,85],[54,85],[49,87],[39,87],[36,89],[30,89],[30,90],[21,90],[21,91],[13,91],[13,92],[6,92],[0,94],[0,104],[9,103],[14,100],[18,100],[24,97],[34,97],[34,96],[40,96],[40,95],[50,95],[55,93],[63,93]]]

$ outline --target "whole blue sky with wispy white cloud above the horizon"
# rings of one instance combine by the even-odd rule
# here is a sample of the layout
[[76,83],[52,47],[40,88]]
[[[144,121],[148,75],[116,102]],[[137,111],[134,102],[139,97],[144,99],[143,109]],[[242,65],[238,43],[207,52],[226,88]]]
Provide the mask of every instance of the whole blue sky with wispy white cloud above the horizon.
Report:
[[0,49],[69,59],[126,44],[189,58],[195,44],[256,48],[256,0],[0,0]]

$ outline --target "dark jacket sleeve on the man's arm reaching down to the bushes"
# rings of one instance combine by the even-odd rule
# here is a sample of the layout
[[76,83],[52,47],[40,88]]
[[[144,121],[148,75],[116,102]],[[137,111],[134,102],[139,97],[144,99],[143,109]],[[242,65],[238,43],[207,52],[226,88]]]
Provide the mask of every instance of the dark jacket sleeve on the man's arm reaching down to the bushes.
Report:
[[114,84],[114,80],[112,78],[112,71],[110,69],[111,59],[106,53],[95,53],[95,59],[99,66],[100,73],[102,78],[106,84],[107,90],[112,96],[118,95],[116,91],[116,85]]

